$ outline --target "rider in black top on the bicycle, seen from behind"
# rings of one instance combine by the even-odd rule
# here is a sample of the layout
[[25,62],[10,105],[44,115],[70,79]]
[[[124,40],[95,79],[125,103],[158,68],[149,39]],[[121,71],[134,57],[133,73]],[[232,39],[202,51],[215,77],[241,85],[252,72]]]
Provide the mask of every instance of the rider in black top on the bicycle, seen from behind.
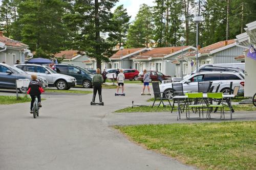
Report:
[[35,96],[38,99],[38,107],[42,107],[41,105],[41,91],[39,88],[41,88],[41,83],[39,81],[37,81],[37,76],[36,75],[31,75],[31,79],[32,81],[30,81],[29,83],[29,87],[28,87],[28,93],[31,96],[31,104],[30,104],[30,113],[33,114],[33,104],[35,102]]

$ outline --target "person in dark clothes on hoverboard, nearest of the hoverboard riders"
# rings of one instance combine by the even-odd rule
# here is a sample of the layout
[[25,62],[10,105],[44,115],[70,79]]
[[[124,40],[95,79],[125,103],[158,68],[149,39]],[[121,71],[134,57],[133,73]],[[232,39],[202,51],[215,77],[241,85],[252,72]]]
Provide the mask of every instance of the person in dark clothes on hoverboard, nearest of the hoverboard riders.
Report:
[[103,77],[100,74],[100,69],[97,68],[97,74],[93,76],[92,84],[93,84],[93,103],[95,103],[95,97],[97,94],[97,91],[99,93],[99,102],[102,103],[102,96],[101,96],[101,84],[103,83]]

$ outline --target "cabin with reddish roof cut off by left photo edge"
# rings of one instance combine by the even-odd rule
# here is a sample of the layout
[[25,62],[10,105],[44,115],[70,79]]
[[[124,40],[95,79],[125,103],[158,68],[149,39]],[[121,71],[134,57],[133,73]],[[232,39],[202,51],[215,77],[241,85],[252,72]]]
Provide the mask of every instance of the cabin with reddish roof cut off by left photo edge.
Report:
[[8,65],[13,65],[19,60],[20,63],[25,63],[25,57],[33,56],[28,49],[29,46],[5,37],[3,31],[0,31],[0,62],[5,62]]

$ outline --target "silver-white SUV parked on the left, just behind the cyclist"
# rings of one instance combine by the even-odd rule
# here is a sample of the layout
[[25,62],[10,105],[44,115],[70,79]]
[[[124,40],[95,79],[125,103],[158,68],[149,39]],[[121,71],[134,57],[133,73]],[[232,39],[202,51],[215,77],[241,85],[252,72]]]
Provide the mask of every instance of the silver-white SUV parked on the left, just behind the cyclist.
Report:
[[76,85],[76,79],[74,77],[58,74],[46,65],[18,64],[14,66],[27,72],[29,75],[36,74],[37,76],[46,78],[49,86],[57,87],[59,90],[68,90]]

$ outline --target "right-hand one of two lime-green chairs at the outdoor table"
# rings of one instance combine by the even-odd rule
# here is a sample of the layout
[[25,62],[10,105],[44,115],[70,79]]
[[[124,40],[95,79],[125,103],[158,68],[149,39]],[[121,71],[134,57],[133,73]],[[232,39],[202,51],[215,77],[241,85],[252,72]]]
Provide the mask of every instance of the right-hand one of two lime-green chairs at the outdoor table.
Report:
[[[220,103],[214,105],[214,104],[208,104],[207,105],[207,118],[208,119],[216,119],[216,120],[221,120],[222,119],[222,114],[223,114],[223,118],[225,119],[225,115],[224,115],[224,105],[223,103],[223,93],[219,92],[219,93],[207,93],[207,98],[208,100],[210,99],[218,99],[220,101]],[[221,116],[220,118],[211,118],[210,117],[210,112],[212,109],[210,108],[220,108],[221,109]]]

